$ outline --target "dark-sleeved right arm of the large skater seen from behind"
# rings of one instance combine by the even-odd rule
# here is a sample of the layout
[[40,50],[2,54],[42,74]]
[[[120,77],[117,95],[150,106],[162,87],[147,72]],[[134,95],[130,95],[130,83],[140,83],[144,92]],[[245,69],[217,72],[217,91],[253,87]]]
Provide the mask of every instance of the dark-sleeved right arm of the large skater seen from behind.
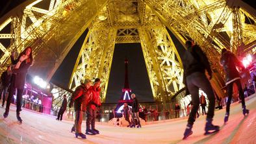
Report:
[[203,51],[199,46],[196,46],[193,48],[194,48],[194,51],[198,54],[200,58],[200,62],[203,62],[203,66],[205,66],[205,69],[207,70],[209,76],[212,77],[212,69],[207,56],[205,55],[205,53],[203,53]]

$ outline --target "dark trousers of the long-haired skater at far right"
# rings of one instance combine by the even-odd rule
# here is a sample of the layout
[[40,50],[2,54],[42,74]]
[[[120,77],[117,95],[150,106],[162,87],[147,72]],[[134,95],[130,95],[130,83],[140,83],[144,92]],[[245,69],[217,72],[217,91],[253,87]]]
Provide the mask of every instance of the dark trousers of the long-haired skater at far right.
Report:
[[228,95],[228,99],[227,99],[227,107],[226,107],[226,112],[229,113],[229,109],[230,109],[230,103],[231,103],[231,99],[232,99],[232,94],[233,94],[233,84],[237,84],[237,88],[239,91],[239,98],[242,101],[242,106],[246,106],[246,103],[244,102],[244,93],[242,90],[242,86],[241,86],[241,82],[240,80],[235,80],[234,82],[231,82],[230,84],[227,85],[227,95]]

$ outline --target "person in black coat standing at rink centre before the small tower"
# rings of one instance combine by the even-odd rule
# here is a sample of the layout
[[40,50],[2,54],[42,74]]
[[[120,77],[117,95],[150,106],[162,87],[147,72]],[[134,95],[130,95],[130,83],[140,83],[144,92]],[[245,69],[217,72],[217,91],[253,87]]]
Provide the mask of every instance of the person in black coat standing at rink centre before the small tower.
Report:
[[131,94],[131,97],[133,98],[133,104],[132,104],[132,119],[133,119],[133,125],[131,125],[131,128],[132,127],[135,127],[136,123],[135,123],[135,117],[138,121],[138,126],[137,128],[141,128],[142,126],[140,125],[140,117],[138,116],[138,100],[136,99],[136,96],[135,94]]

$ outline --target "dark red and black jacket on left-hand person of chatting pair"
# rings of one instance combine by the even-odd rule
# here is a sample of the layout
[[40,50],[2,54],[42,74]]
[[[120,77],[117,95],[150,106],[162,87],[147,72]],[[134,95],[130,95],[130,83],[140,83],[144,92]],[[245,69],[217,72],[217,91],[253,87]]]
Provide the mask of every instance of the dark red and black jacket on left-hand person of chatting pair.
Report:
[[88,90],[86,90],[85,86],[81,84],[75,89],[75,91],[71,95],[70,103],[73,104],[73,102],[75,102],[75,111],[86,111],[87,97]]

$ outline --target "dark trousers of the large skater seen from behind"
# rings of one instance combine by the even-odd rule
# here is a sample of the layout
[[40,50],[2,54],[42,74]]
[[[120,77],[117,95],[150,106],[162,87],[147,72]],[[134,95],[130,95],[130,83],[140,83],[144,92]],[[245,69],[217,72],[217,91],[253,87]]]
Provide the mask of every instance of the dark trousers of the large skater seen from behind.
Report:
[[212,86],[205,76],[204,73],[196,72],[188,75],[186,77],[186,84],[188,87],[188,91],[192,97],[193,107],[188,117],[188,124],[193,125],[196,117],[196,112],[198,112],[199,108],[199,88],[203,90],[209,99],[209,108],[207,113],[207,119],[212,119],[214,116],[214,108],[215,108],[215,97],[214,92],[212,90]]

